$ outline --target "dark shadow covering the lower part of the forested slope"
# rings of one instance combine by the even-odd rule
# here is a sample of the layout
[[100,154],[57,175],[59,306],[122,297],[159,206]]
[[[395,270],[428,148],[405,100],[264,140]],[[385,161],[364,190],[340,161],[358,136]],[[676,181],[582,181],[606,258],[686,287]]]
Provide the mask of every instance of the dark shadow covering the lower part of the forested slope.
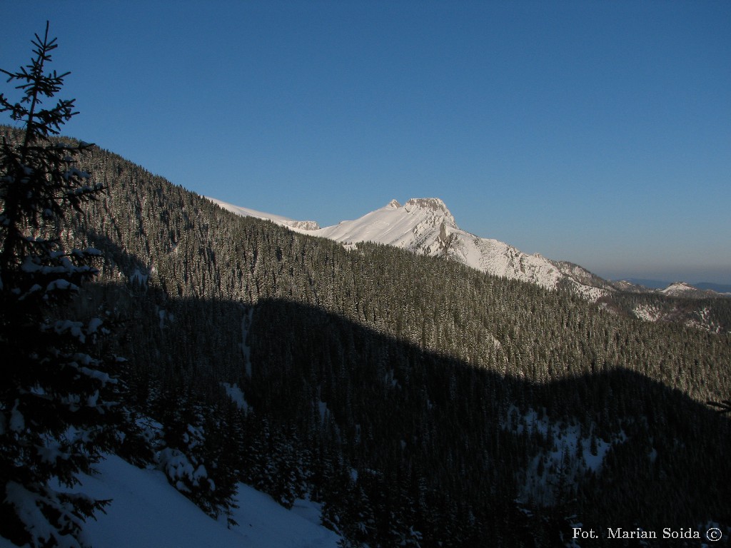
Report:
[[[159,290],[102,293],[132,319],[121,352],[137,372],[197,390],[238,383],[257,416],[317,440],[315,452],[336,446],[372,503],[400,504],[379,495],[385,485],[412,502],[421,493],[416,522],[510,534],[553,506],[596,530],[731,523],[729,421],[631,370],[537,384],[291,300],[251,313]],[[460,515],[433,515],[450,504]]]

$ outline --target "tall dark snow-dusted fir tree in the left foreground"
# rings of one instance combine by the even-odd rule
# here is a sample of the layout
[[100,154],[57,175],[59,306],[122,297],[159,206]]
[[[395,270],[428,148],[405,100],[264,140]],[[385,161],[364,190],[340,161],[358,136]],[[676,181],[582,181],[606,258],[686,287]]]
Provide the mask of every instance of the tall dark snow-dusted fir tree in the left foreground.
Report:
[[45,72],[48,23],[31,63],[7,72],[22,98],[0,112],[22,125],[0,148],[0,535],[33,547],[82,546],[83,522],[105,501],[72,488],[119,433],[114,360],[99,356],[105,321],[68,319],[64,305],[93,278],[99,251],[61,244],[65,214],[101,186],[75,167],[91,145],[54,137],[73,100],[46,107],[68,73]]

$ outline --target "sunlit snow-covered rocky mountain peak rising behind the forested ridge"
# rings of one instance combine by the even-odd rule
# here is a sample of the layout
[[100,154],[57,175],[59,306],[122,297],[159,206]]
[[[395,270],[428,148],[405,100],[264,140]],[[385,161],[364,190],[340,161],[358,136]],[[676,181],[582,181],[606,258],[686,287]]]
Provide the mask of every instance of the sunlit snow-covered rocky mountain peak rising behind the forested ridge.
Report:
[[394,199],[363,217],[341,221],[333,227],[322,229],[295,226],[293,223],[296,221],[291,219],[253,212],[219,200],[213,202],[240,215],[268,218],[298,232],[341,243],[371,241],[417,254],[449,257],[482,272],[537,283],[548,289],[568,283],[591,300],[614,290],[602,278],[572,263],[554,262],[539,254],[525,254],[507,243],[478,237],[460,229],[450,210],[439,198],[412,198],[404,205]]

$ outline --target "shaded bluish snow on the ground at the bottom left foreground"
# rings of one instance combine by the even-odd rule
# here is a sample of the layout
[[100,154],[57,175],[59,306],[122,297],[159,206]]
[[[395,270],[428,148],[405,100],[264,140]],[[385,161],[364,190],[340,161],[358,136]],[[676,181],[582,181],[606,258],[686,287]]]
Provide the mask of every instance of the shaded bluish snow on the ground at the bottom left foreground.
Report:
[[[107,513],[86,524],[94,548],[336,548],[340,537],[319,525],[319,508],[297,501],[292,510],[269,495],[239,484],[238,526],[204,514],[167,483],[162,472],[140,470],[111,455],[83,476],[79,490],[113,499]],[[0,548],[15,547],[0,538]]]

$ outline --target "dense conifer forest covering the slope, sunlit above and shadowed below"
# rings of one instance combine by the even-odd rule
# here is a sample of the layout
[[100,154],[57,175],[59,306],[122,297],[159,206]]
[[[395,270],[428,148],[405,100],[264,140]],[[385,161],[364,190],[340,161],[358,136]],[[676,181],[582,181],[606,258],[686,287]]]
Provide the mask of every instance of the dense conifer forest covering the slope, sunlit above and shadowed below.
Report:
[[[7,147],[23,142],[2,134]],[[38,337],[86,326],[94,358],[77,369],[98,382],[84,397],[111,391],[119,405],[115,434],[99,430],[83,441],[91,449],[57,443],[63,429],[29,444],[155,466],[213,517],[229,515],[240,481],[284,506],[308,495],[352,547],[617,546],[572,539],[572,527],[731,526],[730,424],[708,406],[731,393],[728,330],[622,312],[649,297],[606,305],[397,248],[345,248],[235,216],[103,148],[49,142],[73,148],[94,182],[80,187],[90,199],[52,217],[58,249],[87,250],[71,272],[98,273],[27,317],[45,326]],[[5,352],[17,339],[4,314]],[[28,383],[36,399],[53,392]],[[10,470],[23,397],[5,392]],[[3,472],[6,487],[13,478]],[[8,497],[6,516],[17,511]],[[58,539],[75,535],[64,501],[49,504]],[[85,504],[81,516],[100,503]]]

